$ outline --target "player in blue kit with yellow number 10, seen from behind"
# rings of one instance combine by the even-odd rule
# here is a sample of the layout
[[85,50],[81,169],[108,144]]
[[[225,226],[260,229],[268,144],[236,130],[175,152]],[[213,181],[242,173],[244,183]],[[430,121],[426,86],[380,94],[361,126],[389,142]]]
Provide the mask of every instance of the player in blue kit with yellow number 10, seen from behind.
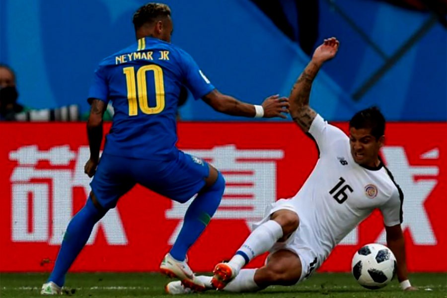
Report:
[[[257,106],[220,93],[190,55],[170,44],[170,14],[161,3],[139,8],[133,17],[137,42],[104,59],[95,71],[88,96],[90,159],[85,164],[85,173],[94,175],[92,191],[67,227],[53,272],[42,286],[43,295],[61,293],[65,275],[93,225],[137,183],[181,203],[198,193],[160,271],[188,288],[204,289],[186,263],[186,252],[216,212],[225,181],[213,166],[175,147],[180,89],[186,85],[195,98],[225,114],[286,117],[287,98],[270,96]],[[109,101],[115,115],[99,159],[102,116]]]

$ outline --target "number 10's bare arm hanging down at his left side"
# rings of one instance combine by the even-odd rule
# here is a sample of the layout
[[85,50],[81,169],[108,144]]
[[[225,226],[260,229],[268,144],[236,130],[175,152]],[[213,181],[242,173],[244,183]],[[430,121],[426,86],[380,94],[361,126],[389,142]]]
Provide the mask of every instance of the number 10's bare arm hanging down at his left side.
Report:
[[88,143],[90,145],[90,159],[84,167],[84,172],[92,177],[95,174],[99,162],[99,149],[102,142],[102,116],[107,106],[104,101],[93,98],[91,101],[90,115],[87,121]]

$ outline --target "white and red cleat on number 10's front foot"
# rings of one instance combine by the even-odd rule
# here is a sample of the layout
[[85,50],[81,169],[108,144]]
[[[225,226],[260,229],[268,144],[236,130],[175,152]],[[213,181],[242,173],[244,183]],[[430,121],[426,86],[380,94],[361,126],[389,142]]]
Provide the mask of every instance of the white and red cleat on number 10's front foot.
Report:
[[205,285],[195,277],[186,260],[177,261],[169,253],[164,256],[161,262],[160,272],[170,278],[178,278],[186,288],[197,292],[205,290]]

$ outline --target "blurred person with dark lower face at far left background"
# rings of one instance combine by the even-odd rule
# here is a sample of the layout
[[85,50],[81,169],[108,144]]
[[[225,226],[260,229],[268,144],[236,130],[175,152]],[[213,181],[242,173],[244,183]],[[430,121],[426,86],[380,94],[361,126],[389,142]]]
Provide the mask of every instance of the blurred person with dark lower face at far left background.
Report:
[[17,103],[18,92],[15,74],[10,67],[0,64],[0,120],[15,121],[16,115],[25,110]]

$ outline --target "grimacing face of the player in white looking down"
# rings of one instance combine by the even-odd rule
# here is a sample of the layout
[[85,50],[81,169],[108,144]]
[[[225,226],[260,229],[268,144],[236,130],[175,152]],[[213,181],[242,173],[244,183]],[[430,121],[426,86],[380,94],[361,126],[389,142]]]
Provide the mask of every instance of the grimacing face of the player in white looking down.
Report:
[[351,154],[354,161],[361,165],[377,166],[378,151],[383,145],[384,137],[378,140],[371,135],[370,128],[349,129],[350,137],[349,143],[351,145]]

